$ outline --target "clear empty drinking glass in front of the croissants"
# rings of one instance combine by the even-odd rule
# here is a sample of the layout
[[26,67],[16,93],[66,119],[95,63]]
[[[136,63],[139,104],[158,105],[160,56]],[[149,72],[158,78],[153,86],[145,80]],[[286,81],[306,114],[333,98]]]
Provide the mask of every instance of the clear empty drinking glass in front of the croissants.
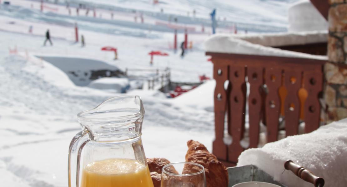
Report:
[[169,163],[163,167],[161,187],[206,187],[205,169],[193,162]]

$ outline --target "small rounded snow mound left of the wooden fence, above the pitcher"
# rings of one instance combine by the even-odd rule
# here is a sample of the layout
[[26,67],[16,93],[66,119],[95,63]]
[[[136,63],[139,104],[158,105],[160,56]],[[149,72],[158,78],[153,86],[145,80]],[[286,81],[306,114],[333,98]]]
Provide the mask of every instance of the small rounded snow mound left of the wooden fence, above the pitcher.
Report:
[[90,82],[88,87],[116,93],[126,93],[130,86],[127,78],[103,77]]

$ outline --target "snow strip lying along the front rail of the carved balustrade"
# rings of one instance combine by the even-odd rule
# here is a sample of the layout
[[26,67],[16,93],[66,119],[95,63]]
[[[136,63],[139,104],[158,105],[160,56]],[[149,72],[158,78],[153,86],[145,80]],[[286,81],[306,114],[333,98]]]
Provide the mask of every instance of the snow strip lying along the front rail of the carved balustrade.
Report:
[[[260,41],[261,37],[258,36]],[[272,35],[273,36],[273,35]],[[269,41],[271,35],[266,36]],[[291,35],[293,36],[293,35]],[[296,35],[300,36],[300,35]],[[281,37],[283,38],[283,37]],[[246,39],[246,38],[245,38]],[[255,40],[248,38],[248,40]],[[257,42],[261,43],[261,42]],[[265,42],[262,42],[264,44]],[[293,43],[292,43],[293,44]],[[273,47],[254,44],[244,40],[242,37],[236,37],[230,34],[216,34],[209,37],[205,43],[205,51],[212,53],[229,53],[229,54],[245,54],[245,55],[262,55],[262,56],[280,56],[280,57],[294,57],[294,58],[311,58],[318,60],[327,60],[327,56],[310,55],[306,53],[292,52],[288,50],[277,49]],[[265,45],[265,44],[264,44]],[[293,44],[294,45],[294,44]]]

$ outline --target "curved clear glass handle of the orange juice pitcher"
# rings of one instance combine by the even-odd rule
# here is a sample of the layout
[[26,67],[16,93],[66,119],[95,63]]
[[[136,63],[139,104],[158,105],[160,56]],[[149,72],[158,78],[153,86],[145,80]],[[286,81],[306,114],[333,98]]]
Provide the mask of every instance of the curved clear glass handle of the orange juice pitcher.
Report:
[[[78,132],[70,142],[69,156],[68,156],[69,187],[79,187],[79,167],[80,167],[80,161],[81,161],[81,153],[85,144],[88,143],[90,140],[91,140],[91,133],[89,133],[87,129],[84,129]],[[77,153],[77,157],[74,157],[76,158],[74,159],[73,155],[76,155],[76,153]],[[76,161],[76,185],[73,185],[73,179],[71,178],[71,173],[73,173],[71,168],[73,168],[74,161]]]

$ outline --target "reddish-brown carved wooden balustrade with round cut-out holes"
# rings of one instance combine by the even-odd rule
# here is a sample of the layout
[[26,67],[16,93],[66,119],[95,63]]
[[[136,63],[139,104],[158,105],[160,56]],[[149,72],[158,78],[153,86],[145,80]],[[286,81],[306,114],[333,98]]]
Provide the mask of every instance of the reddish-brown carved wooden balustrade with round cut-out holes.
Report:
[[[206,55],[212,56],[216,80],[212,151],[227,166],[235,165],[245,149],[258,147],[261,122],[266,126],[267,142],[278,140],[279,119],[283,116],[286,136],[298,134],[300,121],[305,122],[305,133],[319,127],[326,60],[209,52]],[[246,103],[249,146],[243,147],[240,141],[245,133]],[[226,132],[232,137],[231,144],[223,140]]]

